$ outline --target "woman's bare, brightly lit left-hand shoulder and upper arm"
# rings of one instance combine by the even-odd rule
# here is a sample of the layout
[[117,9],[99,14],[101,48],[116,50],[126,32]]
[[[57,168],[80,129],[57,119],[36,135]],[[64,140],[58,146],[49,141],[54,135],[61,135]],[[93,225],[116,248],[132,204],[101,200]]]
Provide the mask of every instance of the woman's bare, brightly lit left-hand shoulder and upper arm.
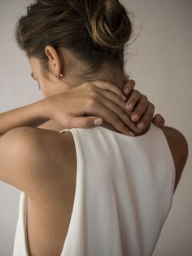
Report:
[[49,190],[64,171],[64,136],[53,130],[19,127],[0,139],[0,179],[28,196]]

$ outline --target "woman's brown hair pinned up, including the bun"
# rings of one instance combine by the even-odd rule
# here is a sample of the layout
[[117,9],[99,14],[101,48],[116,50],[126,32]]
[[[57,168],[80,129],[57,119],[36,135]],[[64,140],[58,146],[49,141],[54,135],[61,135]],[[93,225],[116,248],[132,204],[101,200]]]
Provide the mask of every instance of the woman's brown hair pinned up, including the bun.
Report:
[[47,64],[45,47],[72,52],[97,72],[103,63],[124,68],[124,46],[132,35],[128,11],[118,0],[36,0],[15,29],[28,57]]

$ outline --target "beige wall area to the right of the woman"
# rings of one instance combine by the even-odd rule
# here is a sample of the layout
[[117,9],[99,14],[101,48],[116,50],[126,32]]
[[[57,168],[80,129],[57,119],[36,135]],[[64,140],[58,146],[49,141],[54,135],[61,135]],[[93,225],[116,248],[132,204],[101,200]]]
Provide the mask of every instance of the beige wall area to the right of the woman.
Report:
[[[167,126],[192,146],[192,1],[124,0],[135,16],[137,41],[130,47],[127,70],[149,95]],[[181,176],[154,256],[192,255],[192,159]]]

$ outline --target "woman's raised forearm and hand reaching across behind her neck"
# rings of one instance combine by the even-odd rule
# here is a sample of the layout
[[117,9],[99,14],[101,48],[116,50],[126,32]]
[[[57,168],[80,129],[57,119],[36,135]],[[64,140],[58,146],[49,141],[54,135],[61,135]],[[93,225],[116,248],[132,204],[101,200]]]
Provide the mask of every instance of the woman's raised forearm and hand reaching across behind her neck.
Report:
[[[102,84],[103,82],[100,82],[99,86],[102,87]],[[98,118],[115,124],[119,127],[117,129],[128,134],[129,129],[124,126],[122,119],[126,121],[129,116],[121,109],[125,102],[121,98],[123,93],[120,88],[105,82],[104,89],[99,89],[105,95],[100,95],[95,91],[95,87],[93,84],[84,83],[59,95],[52,95],[36,103],[1,113],[0,134],[6,134],[7,131],[20,126],[40,126],[50,119],[58,122],[63,129],[92,127],[94,120]]]

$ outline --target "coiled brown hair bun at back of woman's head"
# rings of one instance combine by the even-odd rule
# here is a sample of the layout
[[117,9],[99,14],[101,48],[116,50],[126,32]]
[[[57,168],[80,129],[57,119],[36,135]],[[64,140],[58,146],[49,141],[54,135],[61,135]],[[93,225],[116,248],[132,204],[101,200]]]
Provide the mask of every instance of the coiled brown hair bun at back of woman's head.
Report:
[[121,49],[129,41],[132,24],[126,9],[118,0],[100,0],[91,19],[94,42],[100,46]]

